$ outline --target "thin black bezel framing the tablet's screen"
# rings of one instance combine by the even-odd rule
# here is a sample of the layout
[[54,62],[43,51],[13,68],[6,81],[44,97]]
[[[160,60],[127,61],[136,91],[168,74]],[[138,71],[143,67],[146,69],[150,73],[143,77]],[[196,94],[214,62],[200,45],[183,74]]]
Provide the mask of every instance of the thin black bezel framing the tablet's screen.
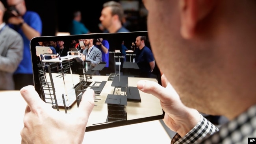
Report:
[[[139,31],[139,32],[126,32],[126,33],[94,33],[94,34],[86,34],[86,35],[67,35],[67,36],[45,36],[45,37],[34,37],[31,41],[30,41],[30,52],[32,55],[32,66],[33,66],[33,79],[34,79],[34,86],[35,86],[35,90],[37,91],[37,93],[39,94],[39,96],[41,97],[41,99],[43,98],[42,94],[41,94],[41,83],[40,83],[40,79],[39,79],[39,73],[38,73],[38,69],[37,69],[37,63],[39,61],[39,59],[36,56],[36,51],[35,51],[35,44],[36,42],[39,41],[67,41],[67,40],[71,40],[71,39],[96,39],[96,38],[106,38],[108,37],[108,35],[116,35],[117,37],[121,37],[121,36],[139,36],[139,35],[145,35],[148,37],[147,31]],[[161,79],[158,78],[158,83],[161,85]],[[150,117],[145,117],[145,118],[139,118],[139,119],[133,119],[133,120],[126,120],[126,121],[121,121],[121,122],[113,122],[113,123],[106,123],[106,124],[101,124],[101,125],[95,125],[95,126],[88,126],[86,127],[86,131],[94,131],[94,130],[99,130],[99,129],[106,129],[106,128],[111,128],[111,127],[117,127],[117,126],[125,126],[125,125],[129,125],[129,124],[137,124],[137,123],[141,123],[141,122],[148,122],[148,121],[152,121],[152,120],[160,120],[163,119],[165,112],[163,111],[163,113],[161,115],[157,115],[157,116],[150,116]]]

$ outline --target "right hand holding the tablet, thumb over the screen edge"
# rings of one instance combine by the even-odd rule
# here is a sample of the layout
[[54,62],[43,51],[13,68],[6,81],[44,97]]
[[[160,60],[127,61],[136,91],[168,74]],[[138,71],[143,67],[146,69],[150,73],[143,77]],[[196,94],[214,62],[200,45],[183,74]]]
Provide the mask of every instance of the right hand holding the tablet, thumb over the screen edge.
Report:
[[200,113],[181,102],[179,95],[164,75],[161,76],[161,82],[163,86],[153,81],[141,80],[137,87],[160,99],[161,107],[165,111],[163,121],[172,131],[183,137],[199,122]]

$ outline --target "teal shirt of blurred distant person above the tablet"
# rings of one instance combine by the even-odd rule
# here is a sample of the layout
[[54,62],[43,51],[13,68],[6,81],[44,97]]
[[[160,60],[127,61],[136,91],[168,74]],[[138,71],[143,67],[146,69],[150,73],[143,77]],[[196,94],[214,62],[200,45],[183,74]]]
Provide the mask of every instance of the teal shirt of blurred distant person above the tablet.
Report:
[[89,30],[85,27],[82,22],[78,22],[76,20],[72,20],[70,26],[70,35],[82,35],[89,33]]

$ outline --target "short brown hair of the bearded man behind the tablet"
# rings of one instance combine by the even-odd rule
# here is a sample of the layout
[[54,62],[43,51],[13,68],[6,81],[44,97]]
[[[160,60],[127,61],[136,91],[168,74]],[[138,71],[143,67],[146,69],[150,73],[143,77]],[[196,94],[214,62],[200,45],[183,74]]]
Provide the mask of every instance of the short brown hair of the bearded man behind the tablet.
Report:
[[118,15],[119,20],[122,21],[122,17],[124,16],[124,10],[122,9],[122,5],[119,2],[115,2],[115,1],[105,2],[103,4],[103,8],[105,7],[111,7],[112,16]]

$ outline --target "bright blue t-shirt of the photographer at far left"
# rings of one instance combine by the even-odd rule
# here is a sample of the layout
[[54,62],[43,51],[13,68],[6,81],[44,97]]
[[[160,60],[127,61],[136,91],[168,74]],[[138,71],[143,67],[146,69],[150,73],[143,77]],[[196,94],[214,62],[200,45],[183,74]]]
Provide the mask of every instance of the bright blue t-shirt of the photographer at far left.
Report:
[[[33,11],[26,11],[22,18],[24,19],[24,22],[26,22],[26,24],[42,34],[42,21],[37,13]],[[24,42],[23,59],[14,74],[32,74],[33,70],[30,53],[30,40],[25,36],[20,26],[16,26],[13,24],[9,24],[9,26],[16,30],[22,36]]]

